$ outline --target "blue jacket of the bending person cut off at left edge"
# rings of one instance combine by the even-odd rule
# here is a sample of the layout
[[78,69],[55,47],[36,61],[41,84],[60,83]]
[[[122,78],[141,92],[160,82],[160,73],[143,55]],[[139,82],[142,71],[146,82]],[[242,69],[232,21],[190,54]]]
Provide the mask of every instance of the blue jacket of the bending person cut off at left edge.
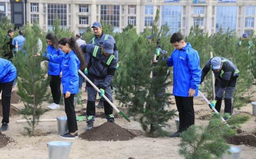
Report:
[[9,60],[0,58],[0,70],[0,83],[11,82],[17,76],[16,68]]

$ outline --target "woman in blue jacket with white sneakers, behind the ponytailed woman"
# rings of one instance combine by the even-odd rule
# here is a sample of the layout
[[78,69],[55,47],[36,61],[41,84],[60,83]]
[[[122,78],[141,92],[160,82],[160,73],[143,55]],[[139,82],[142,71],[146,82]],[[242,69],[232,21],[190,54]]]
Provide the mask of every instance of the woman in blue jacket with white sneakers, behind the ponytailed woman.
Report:
[[[44,51],[52,56],[61,56],[64,53],[60,50],[58,44],[58,38],[55,34],[49,33],[45,37],[47,42],[47,48]],[[59,63],[48,63],[48,76],[51,77],[50,88],[52,92],[53,103],[48,106],[49,109],[59,109],[59,102],[61,96],[60,82],[61,82],[61,69]]]

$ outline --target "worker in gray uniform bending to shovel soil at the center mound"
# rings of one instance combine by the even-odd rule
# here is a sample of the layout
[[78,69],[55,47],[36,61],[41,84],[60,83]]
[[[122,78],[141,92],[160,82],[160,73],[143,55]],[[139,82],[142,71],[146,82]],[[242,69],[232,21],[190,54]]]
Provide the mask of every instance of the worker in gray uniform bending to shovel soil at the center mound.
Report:
[[[112,102],[110,83],[114,77],[117,65],[117,59],[113,55],[114,41],[107,39],[103,41],[101,46],[88,44],[84,47],[82,49],[85,50],[85,52],[88,52],[85,74],[95,84],[95,86],[100,89],[100,96],[105,94],[105,96]],[[88,93],[86,130],[90,130],[93,127],[95,118],[95,100],[97,90],[95,90],[88,81],[86,81],[86,86]],[[112,106],[105,99],[103,99],[103,104],[107,121],[114,122],[115,119],[113,116]]]

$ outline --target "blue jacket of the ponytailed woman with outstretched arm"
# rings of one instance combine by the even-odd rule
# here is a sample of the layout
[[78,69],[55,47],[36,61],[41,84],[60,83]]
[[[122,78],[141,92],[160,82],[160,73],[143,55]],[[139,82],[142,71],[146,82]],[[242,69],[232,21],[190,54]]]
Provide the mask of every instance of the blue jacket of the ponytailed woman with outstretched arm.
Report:
[[62,56],[52,56],[51,54],[46,54],[46,57],[53,63],[61,64],[61,83],[63,86],[62,92],[66,93],[66,91],[69,91],[71,94],[78,93],[78,69],[80,67],[80,61],[75,52],[72,50]]

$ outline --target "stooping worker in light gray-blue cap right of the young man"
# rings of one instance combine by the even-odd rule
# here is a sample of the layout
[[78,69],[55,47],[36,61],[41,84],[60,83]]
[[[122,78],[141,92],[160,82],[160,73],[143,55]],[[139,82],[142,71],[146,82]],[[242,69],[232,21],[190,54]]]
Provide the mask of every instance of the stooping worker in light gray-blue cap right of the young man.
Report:
[[[212,69],[215,75],[215,99],[211,103],[211,108],[220,112],[223,93],[225,91],[225,108],[224,119],[231,118],[232,112],[232,97],[236,88],[236,82],[239,76],[239,70],[228,59],[223,57],[214,57],[209,59],[204,68],[202,69],[201,83],[209,70]],[[200,83],[200,84],[201,84]],[[201,89],[201,85],[199,86]],[[212,112],[214,115],[215,113]]]

